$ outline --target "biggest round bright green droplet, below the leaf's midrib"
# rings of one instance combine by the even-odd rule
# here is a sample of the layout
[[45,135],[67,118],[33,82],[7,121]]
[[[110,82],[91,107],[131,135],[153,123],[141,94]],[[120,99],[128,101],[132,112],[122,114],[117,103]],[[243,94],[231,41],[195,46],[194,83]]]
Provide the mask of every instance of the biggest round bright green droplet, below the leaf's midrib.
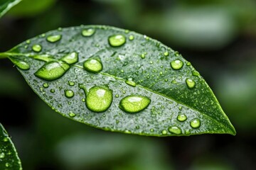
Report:
[[86,106],[90,111],[104,112],[112,103],[112,90],[106,86],[92,87],[86,96]]

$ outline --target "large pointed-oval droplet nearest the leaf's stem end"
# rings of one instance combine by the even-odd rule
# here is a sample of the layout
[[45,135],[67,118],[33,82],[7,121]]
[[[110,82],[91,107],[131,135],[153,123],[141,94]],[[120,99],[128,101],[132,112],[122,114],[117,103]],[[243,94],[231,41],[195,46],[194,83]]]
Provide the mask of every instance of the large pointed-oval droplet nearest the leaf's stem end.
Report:
[[70,66],[65,62],[46,62],[34,74],[41,79],[52,81],[62,77],[69,68]]

